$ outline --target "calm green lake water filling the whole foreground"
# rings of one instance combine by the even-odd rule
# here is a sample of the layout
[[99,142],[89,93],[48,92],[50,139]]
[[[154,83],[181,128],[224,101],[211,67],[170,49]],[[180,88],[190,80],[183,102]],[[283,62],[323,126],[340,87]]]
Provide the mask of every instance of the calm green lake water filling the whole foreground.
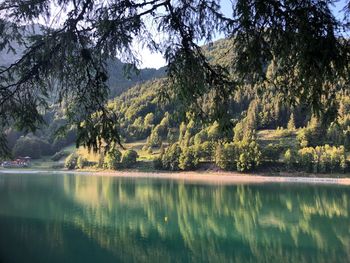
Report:
[[0,262],[350,262],[350,187],[0,174]]

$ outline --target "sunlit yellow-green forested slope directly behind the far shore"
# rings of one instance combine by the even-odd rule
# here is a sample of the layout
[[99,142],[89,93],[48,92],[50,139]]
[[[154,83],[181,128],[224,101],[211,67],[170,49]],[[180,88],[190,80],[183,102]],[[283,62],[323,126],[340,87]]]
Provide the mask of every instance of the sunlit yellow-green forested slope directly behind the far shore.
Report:
[[157,168],[188,170],[203,162],[239,171],[266,164],[308,172],[347,167],[349,96],[339,94],[338,118],[327,123],[305,105],[283,103],[273,90],[263,96],[238,90],[228,108],[232,129],[223,131],[219,123],[198,121],[172,100],[159,104],[166,83],[133,87],[109,105],[120,116],[123,142],[145,140],[142,151],[153,156]]

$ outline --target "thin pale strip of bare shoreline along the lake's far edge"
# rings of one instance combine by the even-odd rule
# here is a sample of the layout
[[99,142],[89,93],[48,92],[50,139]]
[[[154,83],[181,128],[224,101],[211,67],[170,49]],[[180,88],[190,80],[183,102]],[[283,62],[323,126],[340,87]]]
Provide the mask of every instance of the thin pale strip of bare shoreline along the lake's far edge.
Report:
[[350,178],[317,177],[310,174],[306,176],[267,175],[267,174],[242,174],[236,172],[141,172],[129,171],[91,171],[91,170],[19,170],[0,169],[0,174],[77,174],[109,176],[119,178],[142,178],[142,179],[164,179],[176,180],[186,183],[208,183],[208,184],[262,184],[262,183],[304,183],[304,184],[335,184],[349,185]]

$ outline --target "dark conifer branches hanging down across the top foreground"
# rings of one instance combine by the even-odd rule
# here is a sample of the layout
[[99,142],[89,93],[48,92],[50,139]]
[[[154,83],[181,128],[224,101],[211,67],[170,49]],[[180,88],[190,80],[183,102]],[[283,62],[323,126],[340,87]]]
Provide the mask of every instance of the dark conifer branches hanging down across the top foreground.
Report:
[[[4,0],[0,50],[16,53],[22,46],[24,51],[0,69],[1,150],[6,129],[37,130],[53,103],[62,105],[66,122],[60,126],[73,125],[79,145],[98,151],[103,142],[120,143],[118,113],[106,106],[108,62],[118,56],[128,63],[126,73],[135,68],[134,40],[164,55],[168,79],[163,91],[197,118],[217,120],[231,130],[228,109],[243,87],[267,90],[248,110],[256,111],[258,125],[281,122],[271,104],[264,115],[257,111],[265,107],[258,101],[271,94],[334,120],[336,94],[348,84],[350,23],[349,3],[343,3],[343,18],[331,12],[333,2],[238,0],[226,16],[219,0]],[[30,27],[23,25],[38,21],[51,27],[29,34]],[[230,42],[220,52],[226,59],[218,62],[197,44],[210,43],[217,34]]]

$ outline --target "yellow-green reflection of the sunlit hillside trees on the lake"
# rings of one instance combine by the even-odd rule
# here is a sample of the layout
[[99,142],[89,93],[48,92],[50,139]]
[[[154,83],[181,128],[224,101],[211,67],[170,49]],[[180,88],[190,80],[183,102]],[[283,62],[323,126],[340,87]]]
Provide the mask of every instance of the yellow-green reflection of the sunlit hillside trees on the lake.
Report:
[[[264,258],[275,256],[284,262],[327,262],[323,253],[339,255],[339,252],[349,259],[346,192],[337,196],[334,191],[298,193],[294,188],[295,194],[280,189],[276,195],[254,186],[202,187],[157,181],[117,181],[111,186],[113,182],[116,182],[113,178],[76,178],[75,187],[68,192],[74,193],[79,202],[95,207],[93,211],[85,209],[90,212],[83,218],[92,217],[95,225],[123,229],[125,234],[140,233],[146,239],[154,232],[158,238],[171,239],[179,231],[184,246],[195,258],[215,256],[214,261],[239,256],[239,251],[223,248],[229,248],[227,241],[234,244],[241,240],[254,255],[245,260],[263,262]],[[95,185],[91,196],[98,193],[99,200],[109,200],[109,209],[96,206],[95,198],[90,201],[91,185]],[[164,217],[168,218],[167,223]],[[343,223],[332,227],[338,221]],[[343,231],[336,232],[339,227]],[[340,233],[345,234],[339,236]],[[115,244],[109,236],[110,232],[105,236],[100,232],[97,239],[106,248],[113,249]],[[109,241],[104,242],[106,239]],[[317,246],[321,254],[310,258],[306,251],[310,244]],[[336,251],[336,248],[342,249]]]

